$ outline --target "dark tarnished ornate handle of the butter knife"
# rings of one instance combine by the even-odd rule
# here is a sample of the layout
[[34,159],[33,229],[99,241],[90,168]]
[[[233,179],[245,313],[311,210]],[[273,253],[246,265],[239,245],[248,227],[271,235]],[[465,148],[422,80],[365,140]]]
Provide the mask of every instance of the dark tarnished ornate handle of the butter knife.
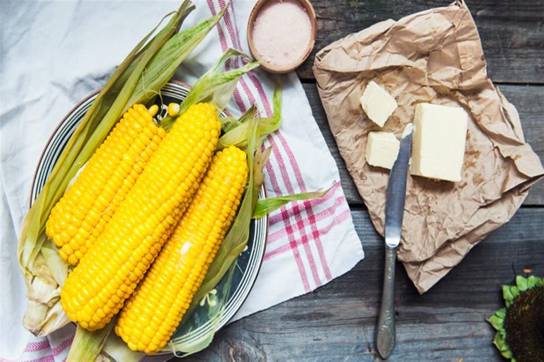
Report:
[[395,262],[397,248],[385,247],[384,290],[381,295],[380,317],[378,319],[378,335],[376,347],[381,358],[386,359],[395,347]]

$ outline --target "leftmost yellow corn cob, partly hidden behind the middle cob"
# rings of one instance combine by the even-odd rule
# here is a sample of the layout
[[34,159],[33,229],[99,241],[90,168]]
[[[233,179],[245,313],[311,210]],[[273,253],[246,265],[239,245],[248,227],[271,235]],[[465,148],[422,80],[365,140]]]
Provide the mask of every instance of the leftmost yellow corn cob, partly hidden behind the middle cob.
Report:
[[47,220],[65,261],[76,265],[95,243],[165,135],[141,104],[119,120]]

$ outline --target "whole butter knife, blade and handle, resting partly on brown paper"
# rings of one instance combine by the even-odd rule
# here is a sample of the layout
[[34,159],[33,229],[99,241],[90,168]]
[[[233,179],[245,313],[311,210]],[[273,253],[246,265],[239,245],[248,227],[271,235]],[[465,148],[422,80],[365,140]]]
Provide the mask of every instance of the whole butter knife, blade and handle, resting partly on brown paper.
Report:
[[391,168],[385,200],[385,273],[381,295],[380,316],[376,347],[381,358],[386,359],[395,347],[395,262],[400,231],[403,227],[404,201],[406,199],[406,177],[412,149],[413,124],[406,125],[400,138],[397,161]]

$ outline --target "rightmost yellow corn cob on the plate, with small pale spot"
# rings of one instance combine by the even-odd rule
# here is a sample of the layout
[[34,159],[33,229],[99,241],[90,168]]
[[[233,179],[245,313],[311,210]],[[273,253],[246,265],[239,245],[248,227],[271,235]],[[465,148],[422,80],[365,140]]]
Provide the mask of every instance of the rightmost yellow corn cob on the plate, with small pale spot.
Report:
[[236,214],[247,174],[246,155],[236,147],[212,159],[187,212],[121,310],[115,332],[131,350],[158,352],[174,333]]

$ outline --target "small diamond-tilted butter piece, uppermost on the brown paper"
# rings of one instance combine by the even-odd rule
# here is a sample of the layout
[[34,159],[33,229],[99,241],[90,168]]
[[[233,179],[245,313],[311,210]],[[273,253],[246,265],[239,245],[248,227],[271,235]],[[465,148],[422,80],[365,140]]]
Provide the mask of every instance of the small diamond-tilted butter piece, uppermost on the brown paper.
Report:
[[383,127],[387,118],[397,109],[397,102],[384,88],[370,81],[361,96],[361,107],[372,122]]

